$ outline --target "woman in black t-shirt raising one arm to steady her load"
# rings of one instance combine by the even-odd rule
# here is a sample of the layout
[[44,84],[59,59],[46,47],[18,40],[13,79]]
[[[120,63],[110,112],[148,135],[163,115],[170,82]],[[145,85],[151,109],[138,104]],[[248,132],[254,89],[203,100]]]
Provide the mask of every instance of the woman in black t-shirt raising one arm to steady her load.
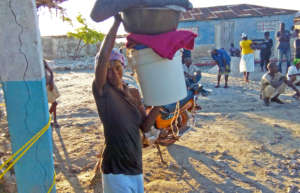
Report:
[[104,193],[143,193],[140,129],[150,130],[160,108],[154,107],[146,116],[137,89],[128,88],[122,80],[122,57],[111,57],[120,24],[121,16],[116,15],[96,57],[92,88],[104,127],[105,148],[95,169],[102,168]]

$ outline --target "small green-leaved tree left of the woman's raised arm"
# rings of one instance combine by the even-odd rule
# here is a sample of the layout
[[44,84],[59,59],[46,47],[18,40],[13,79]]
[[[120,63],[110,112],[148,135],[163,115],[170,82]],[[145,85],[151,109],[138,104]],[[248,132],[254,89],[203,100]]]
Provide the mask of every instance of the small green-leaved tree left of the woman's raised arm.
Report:
[[[65,21],[68,21],[72,25],[71,19],[66,18],[66,17],[64,19],[65,19]],[[76,28],[75,32],[67,33],[68,37],[73,37],[75,39],[78,39],[78,43],[77,43],[77,46],[74,51],[73,59],[76,59],[79,57],[80,51],[84,47],[86,47],[89,44],[97,44],[97,43],[101,42],[105,37],[104,34],[97,32],[94,29],[91,29],[81,14],[76,17],[76,20],[82,26],[79,28]]]

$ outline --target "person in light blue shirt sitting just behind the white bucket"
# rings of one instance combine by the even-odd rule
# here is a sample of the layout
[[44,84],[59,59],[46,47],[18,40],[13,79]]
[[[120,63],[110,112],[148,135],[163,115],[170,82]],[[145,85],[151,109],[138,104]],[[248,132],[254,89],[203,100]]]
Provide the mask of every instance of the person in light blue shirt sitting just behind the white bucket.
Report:
[[186,85],[188,89],[191,89],[194,84],[197,84],[200,81],[201,72],[196,65],[192,64],[192,58],[189,57],[184,59],[183,69]]

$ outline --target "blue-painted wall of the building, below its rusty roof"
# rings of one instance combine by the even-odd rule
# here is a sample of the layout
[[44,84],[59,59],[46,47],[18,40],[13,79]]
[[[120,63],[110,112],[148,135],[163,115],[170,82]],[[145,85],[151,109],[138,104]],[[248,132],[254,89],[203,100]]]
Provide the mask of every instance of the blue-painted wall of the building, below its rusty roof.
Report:
[[[225,47],[229,48],[230,43],[234,43],[236,47],[239,47],[241,33],[248,34],[249,39],[262,39],[264,32],[269,31],[271,38],[274,41],[274,56],[277,56],[276,51],[276,32],[279,29],[280,22],[286,24],[286,29],[290,30],[294,25],[294,14],[291,15],[276,15],[268,17],[251,17],[251,18],[238,18],[227,20],[210,20],[210,21],[188,21],[180,22],[179,29],[191,30],[198,34],[195,40],[195,50],[193,59],[199,60],[202,57],[210,57],[208,49],[213,47]],[[225,24],[225,25],[224,25]],[[233,25],[226,25],[233,24]],[[234,30],[230,29],[230,33],[224,33],[223,27],[220,26],[234,26]],[[221,30],[217,30],[221,28]],[[226,27],[225,27],[226,28]],[[229,28],[228,28],[229,29]],[[227,29],[227,30],[228,30]],[[219,31],[219,32],[218,32]],[[226,30],[225,30],[226,31]],[[227,37],[230,39],[224,46],[220,46],[220,42],[224,42],[224,34],[233,37]],[[223,43],[224,44],[224,43]],[[201,55],[201,57],[200,57]],[[197,61],[198,62],[198,61]]]

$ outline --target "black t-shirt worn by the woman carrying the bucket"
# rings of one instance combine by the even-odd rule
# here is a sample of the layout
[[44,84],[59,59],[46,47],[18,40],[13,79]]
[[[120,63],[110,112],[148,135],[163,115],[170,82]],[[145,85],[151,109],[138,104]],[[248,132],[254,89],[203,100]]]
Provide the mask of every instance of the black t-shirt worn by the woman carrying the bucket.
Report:
[[139,175],[143,173],[140,111],[122,92],[106,84],[100,96],[93,83],[93,95],[104,126],[105,149],[102,157],[104,174]]

